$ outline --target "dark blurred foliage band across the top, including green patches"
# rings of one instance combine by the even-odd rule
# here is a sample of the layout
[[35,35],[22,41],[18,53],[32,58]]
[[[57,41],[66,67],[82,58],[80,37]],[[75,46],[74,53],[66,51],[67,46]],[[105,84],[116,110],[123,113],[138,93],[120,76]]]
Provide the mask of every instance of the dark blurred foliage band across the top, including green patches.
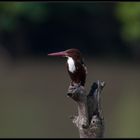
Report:
[[91,56],[140,56],[139,7],[138,2],[1,2],[0,43],[12,56],[71,47]]

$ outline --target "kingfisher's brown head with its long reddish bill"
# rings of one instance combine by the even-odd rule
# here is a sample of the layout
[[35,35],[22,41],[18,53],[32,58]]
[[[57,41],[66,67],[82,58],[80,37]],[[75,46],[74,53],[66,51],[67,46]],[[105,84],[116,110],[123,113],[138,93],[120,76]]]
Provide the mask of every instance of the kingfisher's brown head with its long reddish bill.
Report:
[[61,52],[48,54],[49,56],[72,57],[73,59],[81,59],[81,52],[78,49],[72,48]]

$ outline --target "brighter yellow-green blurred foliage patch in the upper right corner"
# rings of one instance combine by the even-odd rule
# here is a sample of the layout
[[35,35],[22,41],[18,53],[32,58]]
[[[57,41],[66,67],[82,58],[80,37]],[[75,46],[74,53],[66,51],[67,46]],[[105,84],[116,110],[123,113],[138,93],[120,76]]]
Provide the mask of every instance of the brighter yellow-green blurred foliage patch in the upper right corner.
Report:
[[116,15],[122,24],[122,38],[132,42],[140,39],[140,3],[119,2]]

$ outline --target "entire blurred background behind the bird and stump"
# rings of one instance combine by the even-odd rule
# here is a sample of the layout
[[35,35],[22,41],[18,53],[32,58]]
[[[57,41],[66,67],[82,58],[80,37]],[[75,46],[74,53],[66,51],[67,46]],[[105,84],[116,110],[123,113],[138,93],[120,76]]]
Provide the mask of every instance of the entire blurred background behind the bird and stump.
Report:
[[104,80],[105,135],[140,137],[139,2],[0,2],[0,137],[79,138],[63,58],[82,51],[87,92]]

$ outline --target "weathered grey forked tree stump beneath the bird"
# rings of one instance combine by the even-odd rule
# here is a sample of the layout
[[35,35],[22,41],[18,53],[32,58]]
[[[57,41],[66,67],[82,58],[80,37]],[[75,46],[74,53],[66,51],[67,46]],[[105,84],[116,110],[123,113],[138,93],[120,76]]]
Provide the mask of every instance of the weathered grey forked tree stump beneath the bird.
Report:
[[101,92],[105,82],[97,81],[86,95],[83,86],[69,86],[67,95],[78,105],[78,116],[71,119],[79,129],[80,138],[101,138],[104,134],[104,117],[101,106]]

